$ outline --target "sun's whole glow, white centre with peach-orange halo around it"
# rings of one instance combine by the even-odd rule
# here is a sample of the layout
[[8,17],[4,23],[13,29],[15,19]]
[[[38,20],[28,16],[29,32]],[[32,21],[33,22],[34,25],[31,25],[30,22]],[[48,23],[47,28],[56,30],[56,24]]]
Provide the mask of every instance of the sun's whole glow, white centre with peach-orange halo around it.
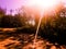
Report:
[[61,3],[61,0],[28,0],[25,7],[28,12],[40,14],[40,13],[50,13],[50,11],[55,10],[58,4]]

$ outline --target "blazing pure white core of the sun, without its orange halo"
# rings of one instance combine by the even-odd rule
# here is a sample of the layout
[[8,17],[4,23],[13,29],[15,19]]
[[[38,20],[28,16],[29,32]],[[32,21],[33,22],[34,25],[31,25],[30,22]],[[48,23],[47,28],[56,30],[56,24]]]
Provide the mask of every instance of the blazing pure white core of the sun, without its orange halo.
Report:
[[29,0],[28,5],[31,5],[31,7],[36,5],[44,9],[48,9],[56,5],[58,2],[59,0]]

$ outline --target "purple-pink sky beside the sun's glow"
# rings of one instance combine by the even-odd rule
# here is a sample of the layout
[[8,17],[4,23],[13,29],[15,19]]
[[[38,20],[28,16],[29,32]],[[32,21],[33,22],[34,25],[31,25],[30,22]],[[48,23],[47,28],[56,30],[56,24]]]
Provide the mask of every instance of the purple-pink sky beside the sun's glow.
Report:
[[[0,0],[0,7],[7,9],[8,13],[9,11],[15,10],[18,8],[21,8],[22,5],[25,5],[29,0]],[[66,0],[62,0],[66,5]]]

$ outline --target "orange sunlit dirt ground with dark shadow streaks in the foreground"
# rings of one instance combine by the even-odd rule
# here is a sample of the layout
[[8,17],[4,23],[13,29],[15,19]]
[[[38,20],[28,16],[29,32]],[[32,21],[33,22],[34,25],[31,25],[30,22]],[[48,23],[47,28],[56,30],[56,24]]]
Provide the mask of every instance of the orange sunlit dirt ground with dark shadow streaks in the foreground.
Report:
[[51,44],[41,37],[34,44],[33,34],[0,34],[0,49],[66,49],[66,46]]

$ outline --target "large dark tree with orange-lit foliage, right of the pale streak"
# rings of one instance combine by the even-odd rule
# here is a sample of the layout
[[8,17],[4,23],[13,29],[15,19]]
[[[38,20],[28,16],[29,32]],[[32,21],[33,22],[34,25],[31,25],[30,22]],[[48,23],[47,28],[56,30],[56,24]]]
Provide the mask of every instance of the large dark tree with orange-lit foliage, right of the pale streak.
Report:
[[[48,16],[46,24],[44,19],[42,20],[42,25],[40,34],[43,38],[46,38],[51,42],[57,42],[59,45],[66,45],[66,9],[61,9],[58,13],[54,16]],[[61,15],[63,12],[63,16]]]

